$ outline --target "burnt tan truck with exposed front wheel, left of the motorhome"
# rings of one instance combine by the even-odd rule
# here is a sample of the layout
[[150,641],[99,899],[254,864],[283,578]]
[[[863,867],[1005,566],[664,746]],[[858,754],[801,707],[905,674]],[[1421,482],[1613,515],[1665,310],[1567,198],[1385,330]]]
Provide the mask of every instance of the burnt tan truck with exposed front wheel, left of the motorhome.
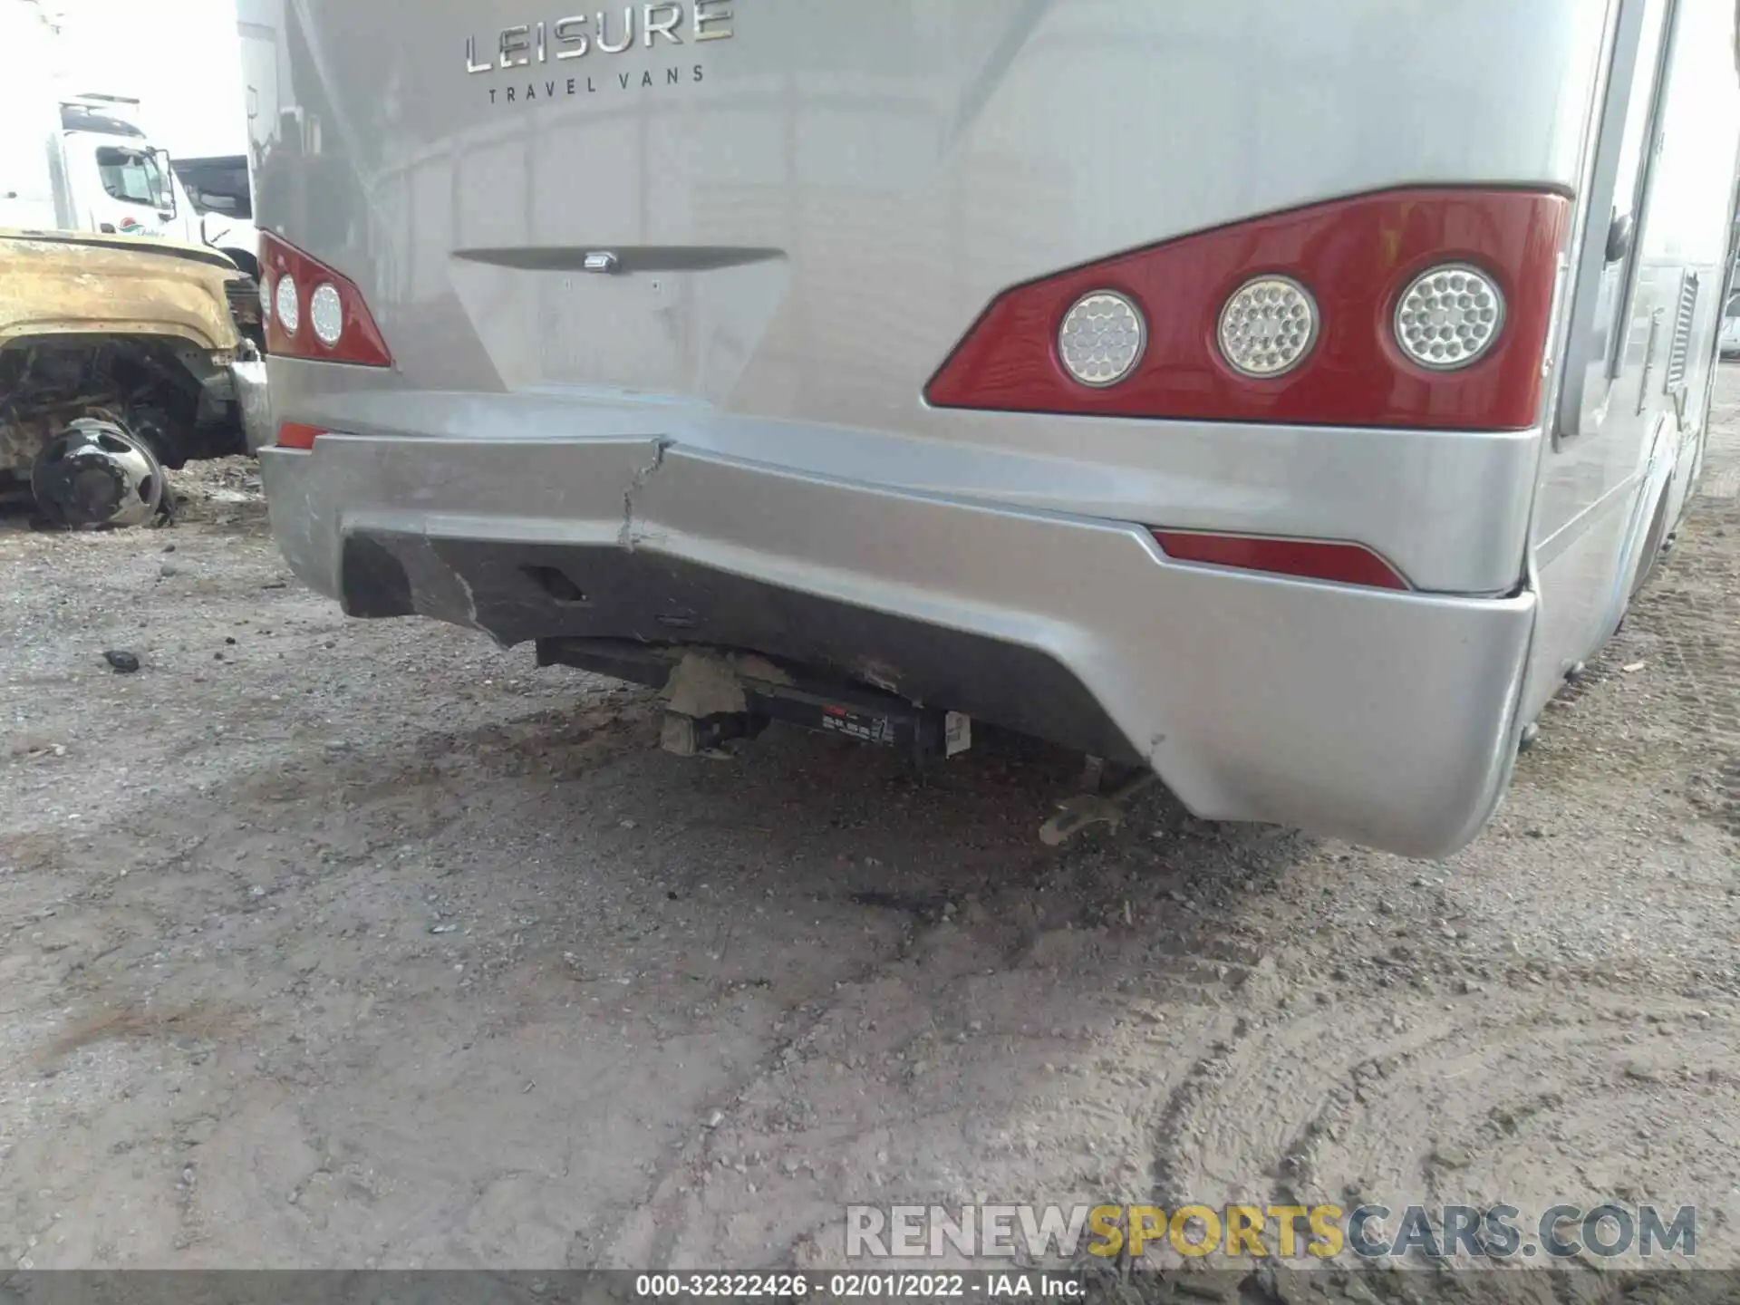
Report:
[[0,499],[77,529],[169,515],[164,466],[245,449],[258,317],[211,249],[0,231]]

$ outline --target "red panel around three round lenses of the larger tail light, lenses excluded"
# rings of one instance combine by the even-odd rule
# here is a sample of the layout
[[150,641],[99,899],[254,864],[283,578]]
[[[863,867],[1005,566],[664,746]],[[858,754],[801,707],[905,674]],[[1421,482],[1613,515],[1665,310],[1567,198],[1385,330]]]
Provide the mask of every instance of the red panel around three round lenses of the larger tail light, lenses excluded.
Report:
[[[1397,190],[1268,214],[1016,285],[992,301],[926,386],[934,407],[1342,426],[1524,430],[1538,419],[1542,357],[1569,200],[1535,191]],[[1498,341],[1462,371],[1427,371],[1395,346],[1395,304],[1427,268],[1465,263],[1505,296]],[[1216,324],[1253,277],[1282,275],[1317,301],[1310,355],[1253,379],[1221,358]],[[1089,291],[1147,318],[1147,348],[1117,385],[1058,362],[1056,336]]]

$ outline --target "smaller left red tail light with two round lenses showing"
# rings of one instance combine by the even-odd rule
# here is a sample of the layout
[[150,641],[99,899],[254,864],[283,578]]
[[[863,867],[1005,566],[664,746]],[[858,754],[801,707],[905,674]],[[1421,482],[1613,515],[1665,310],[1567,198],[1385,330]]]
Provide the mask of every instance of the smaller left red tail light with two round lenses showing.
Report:
[[259,238],[266,351],[311,362],[392,367],[393,355],[355,282],[271,233]]

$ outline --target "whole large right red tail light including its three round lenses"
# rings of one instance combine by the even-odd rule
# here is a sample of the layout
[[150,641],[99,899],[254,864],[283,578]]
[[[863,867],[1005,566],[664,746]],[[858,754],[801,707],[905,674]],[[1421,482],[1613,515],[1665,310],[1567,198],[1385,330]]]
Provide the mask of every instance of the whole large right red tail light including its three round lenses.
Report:
[[1265,214],[999,294],[933,407],[1528,430],[1569,200],[1406,188]]

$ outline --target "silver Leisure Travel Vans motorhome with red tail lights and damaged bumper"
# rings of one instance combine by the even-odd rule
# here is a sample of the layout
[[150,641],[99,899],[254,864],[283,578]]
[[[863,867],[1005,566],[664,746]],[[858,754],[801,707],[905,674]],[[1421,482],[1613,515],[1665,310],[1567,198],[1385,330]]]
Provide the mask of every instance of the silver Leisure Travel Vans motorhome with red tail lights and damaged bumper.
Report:
[[1733,0],[238,3],[355,616],[1439,856],[1698,466]]

